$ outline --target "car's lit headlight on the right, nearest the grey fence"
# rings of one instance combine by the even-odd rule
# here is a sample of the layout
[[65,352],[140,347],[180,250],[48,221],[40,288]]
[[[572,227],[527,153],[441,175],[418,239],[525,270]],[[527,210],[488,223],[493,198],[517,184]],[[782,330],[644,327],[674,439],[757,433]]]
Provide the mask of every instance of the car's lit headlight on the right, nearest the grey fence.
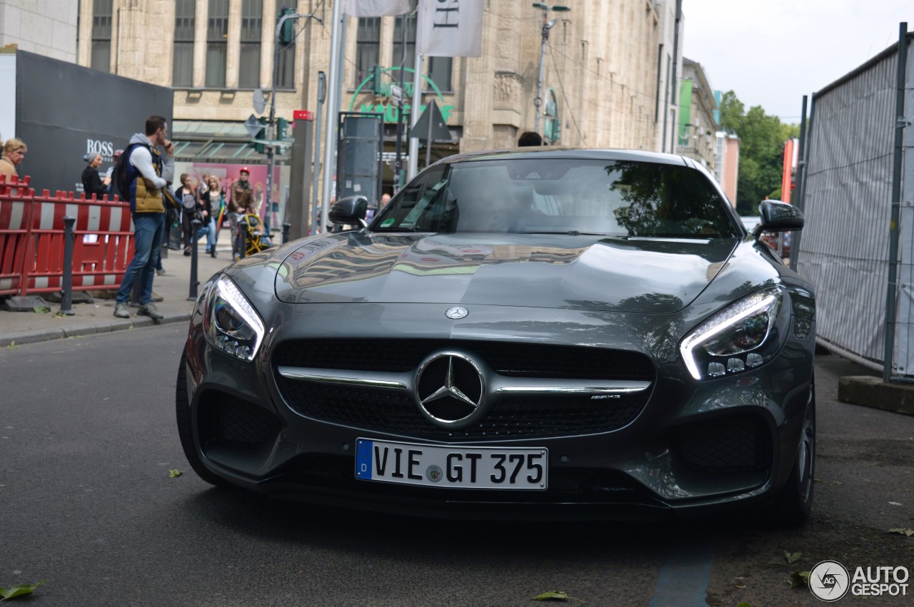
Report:
[[787,335],[783,298],[781,288],[760,290],[691,330],[679,344],[689,374],[703,380],[771,361]]

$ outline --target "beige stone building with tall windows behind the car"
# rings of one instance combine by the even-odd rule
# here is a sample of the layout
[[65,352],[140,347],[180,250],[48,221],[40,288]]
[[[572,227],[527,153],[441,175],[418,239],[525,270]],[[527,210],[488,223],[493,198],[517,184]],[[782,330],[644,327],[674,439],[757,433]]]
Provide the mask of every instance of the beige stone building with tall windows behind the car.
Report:
[[[533,130],[536,122],[544,11],[515,0],[481,1],[482,56],[423,62],[423,73],[435,82],[423,87],[428,91],[423,103],[436,100],[453,135],[435,145],[434,157],[513,147],[519,133]],[[175,137],[183,129],[206,131],[211,140],[243,145],[240,127],[253,111],[255,89],[270,97],[274,29],[286,7],[320,21],[294,22],[297,36],[279,63],[277,116],[291,120],[292,110],[316,109],[317,74],[330,71],[332,2],[80,0],[78,62],[173,87]],[[542,81],[542,108],[551,115],[540,120],[539,130],[556,145],[656,151],[665,146],[671,152],[678,100],[671,74],[681,73],[672,68],[681,60],[674,56],[673,24],[680,23],[675,0],[569,0],[568,5],[567,12],[545,15],[556,23],[549,31]],[[388,86],[376,94],[367,83],[367,63],[380,66],[385,85],[399,76],[391,67],[399,65],[403,23],[393,16],[345,19],[340,110],[381,110],[388,121],[396,118]],[[414,17],[406,24],[411,66]],[[681,32],[679,40],[681,47]],[[386,133],[392,141],[390,127]],[[242,156],[260,162],[259,154]]]

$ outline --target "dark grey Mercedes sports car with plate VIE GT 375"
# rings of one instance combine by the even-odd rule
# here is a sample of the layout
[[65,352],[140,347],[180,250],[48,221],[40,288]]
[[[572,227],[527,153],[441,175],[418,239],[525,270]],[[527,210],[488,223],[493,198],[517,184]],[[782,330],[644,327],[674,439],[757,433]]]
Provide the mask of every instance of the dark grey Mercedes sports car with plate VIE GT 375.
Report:
[[[369,225],[212,277],[177,376],[208,482],[424,516],[643,518],[813,498],[813,288],[672,155],[446,158]],[[348,226],[348,227],[344,227]]]

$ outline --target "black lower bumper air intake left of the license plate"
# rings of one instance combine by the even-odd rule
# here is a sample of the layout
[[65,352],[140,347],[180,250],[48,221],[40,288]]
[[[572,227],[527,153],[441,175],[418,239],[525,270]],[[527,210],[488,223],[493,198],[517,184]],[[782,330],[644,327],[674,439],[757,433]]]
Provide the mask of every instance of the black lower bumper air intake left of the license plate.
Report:
[[223,392],[207,392],[199,415],[205,447],[258,448],[272,443],[281,428],[273,413]]

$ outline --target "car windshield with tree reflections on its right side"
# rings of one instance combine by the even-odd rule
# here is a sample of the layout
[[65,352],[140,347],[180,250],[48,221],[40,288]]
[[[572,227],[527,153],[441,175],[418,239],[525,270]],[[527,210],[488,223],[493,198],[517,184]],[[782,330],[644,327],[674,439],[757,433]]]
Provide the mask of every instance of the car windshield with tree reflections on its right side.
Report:
[[685,166],[505,158],[431,167],[369,229],[733,237],[726,204],[707,176]]

